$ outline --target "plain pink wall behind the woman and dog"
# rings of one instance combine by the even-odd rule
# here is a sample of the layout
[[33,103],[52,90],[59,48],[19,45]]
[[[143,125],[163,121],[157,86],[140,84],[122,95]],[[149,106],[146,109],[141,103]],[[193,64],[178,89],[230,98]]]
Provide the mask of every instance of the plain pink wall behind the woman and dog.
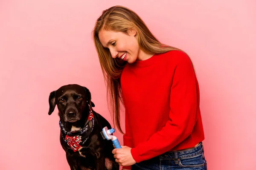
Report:
[[1,0],[0,169],[69,170],[57,110],[47,114],[61,85],[89,88],[95,111],[111,122],[91,31],[114,5],[192,58],[208,169],[255,170],[255,0]]

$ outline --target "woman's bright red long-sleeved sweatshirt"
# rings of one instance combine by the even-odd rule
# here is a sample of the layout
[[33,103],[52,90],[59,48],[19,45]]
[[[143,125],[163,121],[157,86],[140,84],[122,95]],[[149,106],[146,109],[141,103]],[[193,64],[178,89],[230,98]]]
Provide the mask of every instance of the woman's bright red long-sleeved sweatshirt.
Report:
[[136,162],[204,140],[198,81],[185,53],[169,51],[127,64],[121,88],[124,145]]

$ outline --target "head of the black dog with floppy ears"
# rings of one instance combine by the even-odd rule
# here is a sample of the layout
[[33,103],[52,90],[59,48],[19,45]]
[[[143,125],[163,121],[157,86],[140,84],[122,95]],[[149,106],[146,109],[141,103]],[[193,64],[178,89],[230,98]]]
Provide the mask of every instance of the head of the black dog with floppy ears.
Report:
[[[80,85],[64,85],[49,95],[49,112],[51,115],[58,107],[59,116],[64,122],[76,122],[81,119],[88,107],[94,107],[89,89]],[[84,115],[86,116],[86,115]]]

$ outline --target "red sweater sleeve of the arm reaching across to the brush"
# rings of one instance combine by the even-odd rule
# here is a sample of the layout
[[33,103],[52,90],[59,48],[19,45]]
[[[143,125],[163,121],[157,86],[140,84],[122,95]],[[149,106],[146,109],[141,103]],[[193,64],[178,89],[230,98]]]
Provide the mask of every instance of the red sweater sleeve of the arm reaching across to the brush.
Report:
[[170,90],[169,120],[148,141],[131,149],[136,162],[171,150],[192,133],[198,108],[196,77],[189,57],[178,57]]

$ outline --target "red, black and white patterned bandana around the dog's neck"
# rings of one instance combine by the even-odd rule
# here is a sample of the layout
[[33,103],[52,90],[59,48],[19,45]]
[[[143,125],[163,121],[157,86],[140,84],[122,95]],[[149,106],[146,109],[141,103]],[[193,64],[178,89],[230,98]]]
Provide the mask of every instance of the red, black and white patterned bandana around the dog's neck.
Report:
[[73,131],[73,132],[67,131],[64,125],[61,123],[61,121],[59,122],[59,126],[61,128],[62,138],[70,146],[70,148],[74,152],[76,152],[81,147],[81,144],[84,144],[87,141],[87,139],[90,136],[90,133],[93,131],[93,126],[94,126],[93,111],[90,108],[90,113],[85,123],[85,126],[78,131]]

